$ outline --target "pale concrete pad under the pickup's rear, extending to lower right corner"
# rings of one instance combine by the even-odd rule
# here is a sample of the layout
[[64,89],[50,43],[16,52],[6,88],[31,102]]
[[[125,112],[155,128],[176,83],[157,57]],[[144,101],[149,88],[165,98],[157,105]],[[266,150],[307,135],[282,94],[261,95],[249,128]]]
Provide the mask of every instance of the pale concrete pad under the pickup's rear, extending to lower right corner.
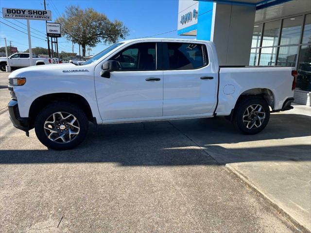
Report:
[[[302,232],[311,232],[311,107],[271,115],[256,135],[239,135],[221,117],[209,132],[173,124],[236,174]],[[222,129],[219,126],[222,125]],[[231,132],[232,131],[232,132]]]

